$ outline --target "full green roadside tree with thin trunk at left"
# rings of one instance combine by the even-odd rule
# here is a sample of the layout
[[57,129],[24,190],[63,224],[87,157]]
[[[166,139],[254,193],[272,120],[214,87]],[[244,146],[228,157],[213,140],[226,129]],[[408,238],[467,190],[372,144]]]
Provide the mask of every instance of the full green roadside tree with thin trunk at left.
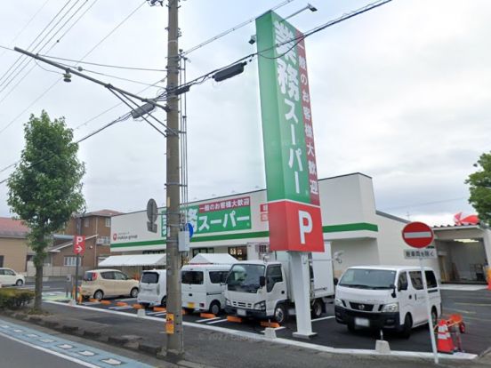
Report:
[[24,125],[25,147],[8,179],[7,203],[30,232],[28,243],[36,252],[36,297],[34,308],[41,309],[43,264],[52,234],[64,228],[74,212],[85,207],[82,177],[85,165],[78,161],[78,144],[65,119],[50,120],[31,115]]

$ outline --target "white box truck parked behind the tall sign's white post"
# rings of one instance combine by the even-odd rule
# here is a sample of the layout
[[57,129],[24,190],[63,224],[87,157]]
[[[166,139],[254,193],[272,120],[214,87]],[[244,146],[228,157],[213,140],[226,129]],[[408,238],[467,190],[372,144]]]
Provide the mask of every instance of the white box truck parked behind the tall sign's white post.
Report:
[[[279,324],[294,314],[290,255],[276,252],[276,260],[245,260],[230,268],[225,285],[225,312],[232,316],[273,319]],[[334,296],[331,246],[309,253],[310,310],[313,317],[326,311]]]

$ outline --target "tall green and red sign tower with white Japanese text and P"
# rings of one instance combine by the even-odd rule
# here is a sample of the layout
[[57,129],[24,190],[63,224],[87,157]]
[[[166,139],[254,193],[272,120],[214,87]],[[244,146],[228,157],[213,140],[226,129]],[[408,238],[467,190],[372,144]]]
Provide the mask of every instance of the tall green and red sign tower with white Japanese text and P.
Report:
[[256,36],[270,249],[324,252],[302,33],[267,12]]

